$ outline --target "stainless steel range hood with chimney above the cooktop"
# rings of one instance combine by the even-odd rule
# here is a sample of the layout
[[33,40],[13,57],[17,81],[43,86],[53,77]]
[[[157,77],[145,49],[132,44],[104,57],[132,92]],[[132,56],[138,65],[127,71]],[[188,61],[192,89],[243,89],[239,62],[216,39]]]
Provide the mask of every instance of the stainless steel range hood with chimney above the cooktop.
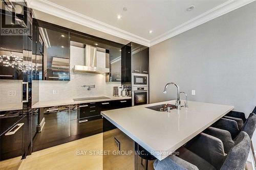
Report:
[[110,72],[109,68],[97,65],[97,47],[86,44],[84,50],[84,65],[75,65],[74,71],[101,74]]

